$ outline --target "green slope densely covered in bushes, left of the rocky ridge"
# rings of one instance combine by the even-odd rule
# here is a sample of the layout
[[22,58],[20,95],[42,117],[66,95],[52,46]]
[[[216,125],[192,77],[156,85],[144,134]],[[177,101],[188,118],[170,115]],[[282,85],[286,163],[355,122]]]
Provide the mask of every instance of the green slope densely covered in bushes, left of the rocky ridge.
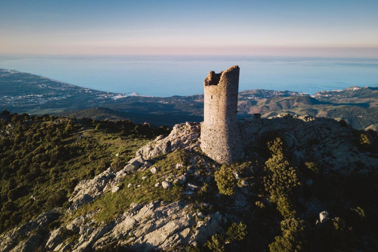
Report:
[[[77,182],[119,169],[151,138],[169,133],[130,121],[29,116],[0,120],[0,233],[63,206]],[[116,157],[116,153],[119,156]]]

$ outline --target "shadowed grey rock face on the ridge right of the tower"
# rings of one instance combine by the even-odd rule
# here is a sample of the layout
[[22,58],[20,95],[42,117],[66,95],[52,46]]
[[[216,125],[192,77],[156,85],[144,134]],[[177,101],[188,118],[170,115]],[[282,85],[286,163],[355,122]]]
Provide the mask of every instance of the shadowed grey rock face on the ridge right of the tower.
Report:
[[334,171],[348,173],[356,169],[357,163],[378,164],[378,157],[358,150],[355,130],[342,127],[334,119],[294,115],[245,120],[239,125],[246,145],[265,147],[266,142],[261,139],[274,134],[282,136],[294,165],[313,159]]

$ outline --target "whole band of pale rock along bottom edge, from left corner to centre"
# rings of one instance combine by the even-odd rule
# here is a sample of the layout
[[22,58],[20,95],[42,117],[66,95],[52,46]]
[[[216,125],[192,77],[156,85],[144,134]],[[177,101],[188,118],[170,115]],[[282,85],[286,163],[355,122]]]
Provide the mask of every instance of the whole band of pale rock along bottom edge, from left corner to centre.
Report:
[[[190,205],[184,202],[146,205],[131,204],[130,209],[110,224],[94,226],[84,222],[90,216],[79,216],[66,227],[59,227],[48,235],[46,226],[57,218],[57,211],[49,211],[18,229],[0,237],[0,251],[34,251],[44,246],[47,251],[93,251],[108,244],[125,245],[135,251],[167,250],[179,244],[203,244],[208,237],[221,230],[222,215],[219,212],[202,216],[196,222]],[[79,239],[70,243],[64,230],[77,232]],[[17,244],[20,237],[26,240]]]

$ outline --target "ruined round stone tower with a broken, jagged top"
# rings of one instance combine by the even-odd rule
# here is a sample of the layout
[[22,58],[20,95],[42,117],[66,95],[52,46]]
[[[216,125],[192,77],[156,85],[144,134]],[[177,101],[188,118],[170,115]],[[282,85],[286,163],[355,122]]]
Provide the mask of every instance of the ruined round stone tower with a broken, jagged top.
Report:
[[231,66],[218,74],[210,71],[203,84],[201,149],[221,164],[235,162],[244,156],[243,141],[236,121],[239,66]]

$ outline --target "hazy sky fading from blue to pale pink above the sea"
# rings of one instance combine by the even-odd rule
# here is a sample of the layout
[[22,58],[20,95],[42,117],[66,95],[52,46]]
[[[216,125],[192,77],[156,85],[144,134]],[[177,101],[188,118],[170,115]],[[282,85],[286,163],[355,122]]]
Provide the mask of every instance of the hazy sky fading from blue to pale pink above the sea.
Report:
[[378,57],[378,0],[1,0],[0,53]]

